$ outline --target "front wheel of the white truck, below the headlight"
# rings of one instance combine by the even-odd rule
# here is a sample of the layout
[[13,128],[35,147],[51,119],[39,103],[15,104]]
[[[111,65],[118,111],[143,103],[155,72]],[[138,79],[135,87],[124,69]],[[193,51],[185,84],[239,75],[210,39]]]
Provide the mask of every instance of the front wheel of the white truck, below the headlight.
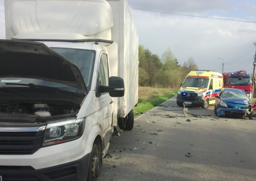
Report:
[[100,176],[100,165],[102,164],[102,154],[99,151],[98,145],[93,144],[90,156],[87,181],[96,181]]

